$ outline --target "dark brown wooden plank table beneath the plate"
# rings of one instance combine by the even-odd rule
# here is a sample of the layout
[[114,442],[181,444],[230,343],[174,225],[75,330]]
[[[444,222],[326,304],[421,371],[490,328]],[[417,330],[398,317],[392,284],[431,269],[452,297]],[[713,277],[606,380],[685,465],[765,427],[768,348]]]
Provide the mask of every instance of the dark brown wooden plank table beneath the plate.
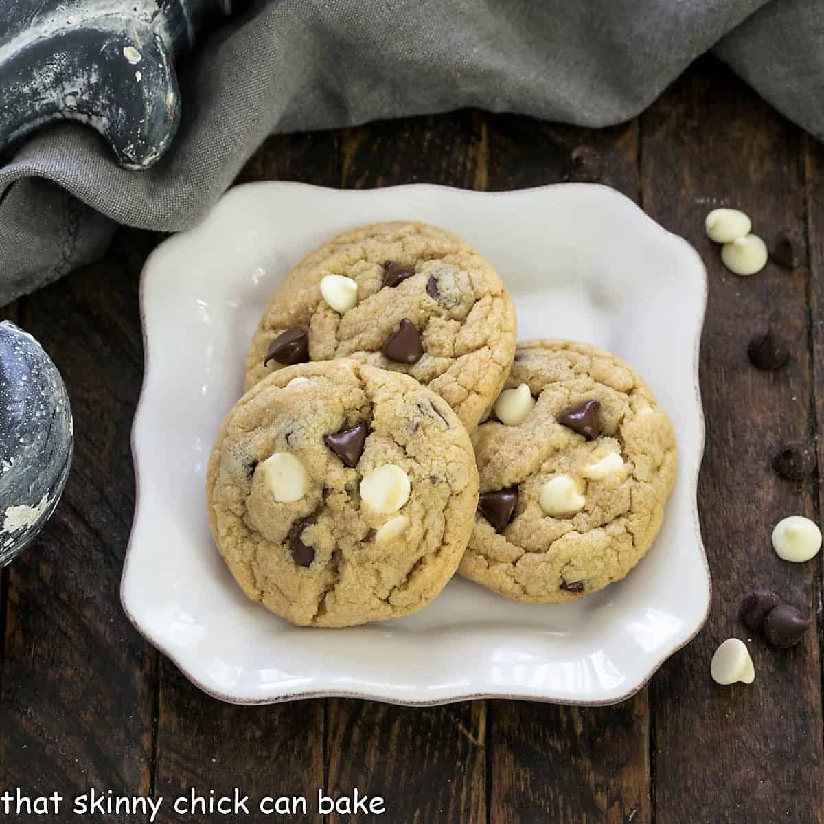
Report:
[[[786,564],[770,548],[780,517],[818,517],[817,476],[781,480],[770,454],[785,438],[815,438],[824,415],[824,147],[702,59],[615,128],[460,111],[280,136],[241,180],[516,189],[577,179],[570,156],[580,145],[601,154],[603,183],[686,236],[709,272],[699,492],[714,595],[700,635],[634,698],[599,709],[338,699],[250,708],[201,694],[138,636],[119,603],[134,503],[129,429],[143,368],[138,277],[161,240],[122,229],[99,264],[4,311],[62,370],[77,442],[54,519],[2,575],[0,794],[19,786],[71,797],[93,786],[173,798],[194,786],[312,799],[318,787],[357,787],[382,795],[387,808],[358,821],[393,824],[822,822],[820,631],[789,652],[753,638],[751,686],[715,686],[709,659],[719,641],[742,634],[737,609],[753,586],[775,588],[822,625],[821,556]],[[803,264],[771,263],[751,279],[729,274],[703,230],[720,204],[745,208],[766,238],[800,230]],[[769,322],[792,352],[773,373],[751,368],[746,355],[747,340]],[[228,818],[177,817],[166,807],[157,820]]]

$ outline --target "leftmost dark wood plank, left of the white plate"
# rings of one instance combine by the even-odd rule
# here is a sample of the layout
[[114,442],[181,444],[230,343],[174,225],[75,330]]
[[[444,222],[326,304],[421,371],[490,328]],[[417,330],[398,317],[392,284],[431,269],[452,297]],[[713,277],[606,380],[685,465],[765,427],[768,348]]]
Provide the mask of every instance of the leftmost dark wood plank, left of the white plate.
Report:
[[99,264],[20,302],[18,321],[63,372],[75,421],[63,500],[8,570],[0,786],[25,794],[151,790],[157,656],[126,620],[119,580],[143,367],[138,274],[157,239],[122,230]]

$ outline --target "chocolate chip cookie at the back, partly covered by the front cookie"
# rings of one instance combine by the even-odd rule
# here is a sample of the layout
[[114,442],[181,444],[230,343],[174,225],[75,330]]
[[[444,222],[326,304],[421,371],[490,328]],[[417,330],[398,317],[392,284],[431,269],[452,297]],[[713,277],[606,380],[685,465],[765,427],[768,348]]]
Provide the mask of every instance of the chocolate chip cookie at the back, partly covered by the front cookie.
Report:
[[514,353],[515,307],[487,260],[443,229],[376,223],[287,275],[252,339],[244,388],[288,364],[353,358],[411,375],[471,431]]

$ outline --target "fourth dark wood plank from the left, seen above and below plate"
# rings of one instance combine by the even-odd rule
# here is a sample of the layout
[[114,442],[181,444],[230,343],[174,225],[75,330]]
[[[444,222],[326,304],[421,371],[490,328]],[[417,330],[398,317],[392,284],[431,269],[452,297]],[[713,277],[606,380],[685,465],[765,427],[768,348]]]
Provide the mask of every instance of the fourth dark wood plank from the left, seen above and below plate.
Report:
[[[489,189],[597,180],[639,197],[635,121],[592,131],[495,115],[487,138]],[[574,162],[579,147],[587,166]],[[646,690],[597,709],[496,702],[488,739],[493,824],[650,820]]]

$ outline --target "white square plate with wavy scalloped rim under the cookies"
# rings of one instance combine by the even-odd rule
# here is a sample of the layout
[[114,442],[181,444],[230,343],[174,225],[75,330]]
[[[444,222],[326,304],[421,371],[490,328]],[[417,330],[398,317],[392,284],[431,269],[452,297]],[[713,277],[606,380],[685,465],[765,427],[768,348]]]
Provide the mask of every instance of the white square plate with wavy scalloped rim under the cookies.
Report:
[[[456,578],[414,616],[346,630],[293,627],[236,586],[209,536],[204,473],[240,394],[260,312],[307,251],[344,229],[399,218],[452,229],[486,255],[513,294],[521,339],[611,349],[671,414],[676,486],[658,541],[624,581],[572,604],[531,606]],[[686,241],[616,191],[240,186],[155,250],[141,302],[138,503],[122,600],[138,630],[204,691],[236,703],[317,695],[611,703],[643,686],[704,623],[710,582],[695,492],[706,274]]]

